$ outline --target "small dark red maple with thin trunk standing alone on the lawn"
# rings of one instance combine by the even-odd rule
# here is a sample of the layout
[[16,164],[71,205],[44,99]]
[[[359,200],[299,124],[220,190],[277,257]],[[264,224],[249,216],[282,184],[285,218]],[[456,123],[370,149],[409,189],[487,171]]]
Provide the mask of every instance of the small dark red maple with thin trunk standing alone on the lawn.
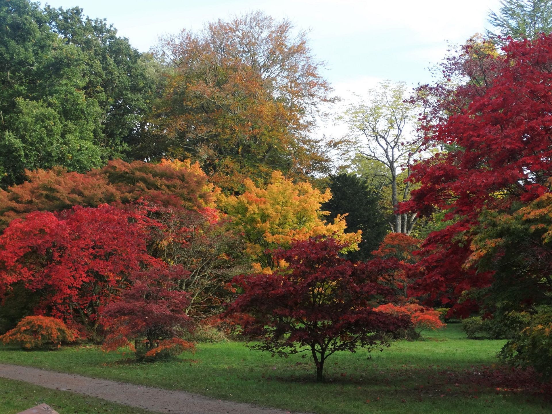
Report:
[[288,267],[234,279],[243,294],[229,312],[252,316],[244,319],[243,332],[260,342],[251,347],[277,355],[310,352],[319,381],[331,354],[383,349],[410,323],[374,310],[392,291],[378,283],[373,265],[341,257],[343,247],[333,238],[294,242],[289,250],[274,252]]

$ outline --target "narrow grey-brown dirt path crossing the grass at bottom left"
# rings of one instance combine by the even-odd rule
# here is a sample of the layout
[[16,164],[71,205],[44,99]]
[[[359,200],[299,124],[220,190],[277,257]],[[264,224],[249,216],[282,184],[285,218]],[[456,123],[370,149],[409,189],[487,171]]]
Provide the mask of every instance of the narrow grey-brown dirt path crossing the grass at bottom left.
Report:
[[54,390],[68,390],[119,404],[172,414],[285,414],[289,411],[262,408],[240,402],[215,400],[185,391],[119,383],[76,374],[0,364],[3,378],[26,381]]

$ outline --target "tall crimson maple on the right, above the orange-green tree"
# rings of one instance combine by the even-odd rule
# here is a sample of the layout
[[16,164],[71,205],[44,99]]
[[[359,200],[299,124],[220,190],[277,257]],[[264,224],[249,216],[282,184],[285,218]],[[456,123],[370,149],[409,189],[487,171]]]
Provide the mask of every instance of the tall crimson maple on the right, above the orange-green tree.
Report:
[[[511,42],[503,50],[504,55],[493,58],[492,78],[469,96],[469,105],[433,125],[428,139],[448,152],[413,168],[411,179],[421,188],[401,206],[422,214],[444,210],[445,219],[454,220],[429,235],[417,265],[424,274],[420,291],[441,296],[443,302],[492,282],[489,273],[463,268],[470,230],[482,211],[507,211],[549,191],[552,36]],[[463,310],[457,309],[465,314],[471,305],[466,301]]]

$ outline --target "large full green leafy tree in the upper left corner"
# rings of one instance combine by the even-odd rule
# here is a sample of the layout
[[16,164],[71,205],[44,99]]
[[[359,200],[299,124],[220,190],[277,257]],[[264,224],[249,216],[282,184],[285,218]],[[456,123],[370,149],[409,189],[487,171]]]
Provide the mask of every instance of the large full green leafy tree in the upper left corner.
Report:
[[86,171],[128,152],[155,96],[155,65],[104,20],[0,3],[0,184],[24,169]]

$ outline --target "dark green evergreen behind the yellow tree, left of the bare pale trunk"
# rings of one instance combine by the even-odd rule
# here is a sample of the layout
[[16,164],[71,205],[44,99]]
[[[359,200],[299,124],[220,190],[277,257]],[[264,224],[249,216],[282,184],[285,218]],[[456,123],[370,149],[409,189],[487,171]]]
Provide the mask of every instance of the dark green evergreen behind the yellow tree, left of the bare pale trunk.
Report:
[[338,215],[347,214],[347,230],[362,230],[359,250],[348,252],[347,258],[353,262],[369,259],[388,230],[379,205],[380,195],[364,179],[345,173],[330,177],[330,191],[332,198],[321,207],[330,212],[328,218],[335,220]]

